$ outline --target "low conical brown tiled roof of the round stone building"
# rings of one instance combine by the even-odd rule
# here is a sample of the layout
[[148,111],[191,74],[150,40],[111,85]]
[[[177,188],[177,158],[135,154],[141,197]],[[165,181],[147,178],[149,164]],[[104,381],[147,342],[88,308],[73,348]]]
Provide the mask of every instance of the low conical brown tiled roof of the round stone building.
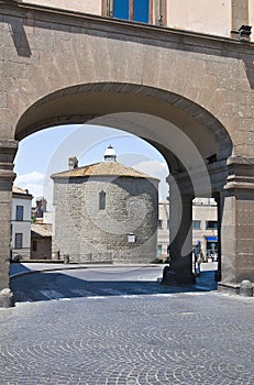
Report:
[[126,167],[118,162],[101,162],[84,167],[77,167],[67,172],[53,174],[52,178],[76,178],[89,176],[126,176],[133,178],[148,178],[158,180],[145,173],[141,173],[132,167]]

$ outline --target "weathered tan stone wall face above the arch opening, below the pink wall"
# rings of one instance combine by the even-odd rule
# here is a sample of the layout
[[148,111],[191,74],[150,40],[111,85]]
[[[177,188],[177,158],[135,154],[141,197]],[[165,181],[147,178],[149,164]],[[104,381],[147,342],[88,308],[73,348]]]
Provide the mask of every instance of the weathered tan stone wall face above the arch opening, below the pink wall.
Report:
[[[22,8],[22,4],[18,10],[19,12],[7,7],[0,15],[2,138],[13,139],[14,135],[23,138],[43,128],[43,124],[44,127],[57,124],[62,119],[64,122],[66,116],[68,119],[73,117],[70,118],[73,120],[80,117],[80,121],[84,121],[81,85],[120,82],[139,85],[140,97],[143,95],[147,97],[145,87],[152,87],[154,91],[148,91],[150,98],[153,99],[152,108],[146,107],[144,100],[140,110],[156,113],[159,108],[161,117],[165,119],[173,119],[177,111],[184,110],[187,114],[194,113],[196,120],[200,119],[202,123],[211,124],[211,116],[206,117],[205,111],[196,111],[195,105],[181,98],[177,101],[165,100],[167,113],[156,100],[158,97],[161,103],[163,101],[158,90],[173,92],[205,107],[206,111],[227,128],[234,143],[234,153],[250,156],[252,152],[250,146],[253,145],[250,129],[254,113],[251,47],[243,44],[240,46],[238,42],[229,40],[220,41],[191,34],[184,36],[177,31],[173,33],[162,29],[151,31],[146,26],[121,25],[121,22],[114,20],[103,22],[96,16],[88,19],[64,12],[51,13],[36,8],[30,10]],[[123,34],[124,38],[121,37]],[[76,85],[79,87],[70,90],[73,102],[68,103],[69,108],[60,107],[54,100],[53,92]],[[96,90],[100,91],[98,87]],[[92,87],[84,91],[95,92]],[[120,100],[125,91],[132,94],[131,89],[125,88],[121,92],[118,91],[117,98]],[[112,92],[110,88],[109,92]],[[136,89],[133,92],[136,95]],[[74,100],[77,94],[79,102]],[[44,100],[36,105],[36,108],[31,108],[49,95],[51,106]],[[62,102],[64,103],[66,99],[67,90],[62,91]],[[95,103],[92,100],[86,113],[97,116],[118,112],[119,101],[110,100],[110,102],[111,108],[106,105],[107,109],[103,110],[102,101]],[[31,110],[27,110],[29,108]],[[136,109],[135,103],[133,109]],[[198,129],[190,130],[190,125],[195,122],[185,123],[186,117],[180,118],[180,113],[178,120],[176,118],[174,123],[181,124],[183,130],[191,135],[191,140],[200,151],[203,146],[203,143],[199,144],[200,134],[205,141],[210,141],[212,144],[211,136],[209,138],[206,130],[202,130],[202,133]],[[218,135],[219,145],[222,133],[219,133],[219,127],[213,128],[214,130],[218,130],[214,134]],[[223,141],[221,142],[223,145]]]

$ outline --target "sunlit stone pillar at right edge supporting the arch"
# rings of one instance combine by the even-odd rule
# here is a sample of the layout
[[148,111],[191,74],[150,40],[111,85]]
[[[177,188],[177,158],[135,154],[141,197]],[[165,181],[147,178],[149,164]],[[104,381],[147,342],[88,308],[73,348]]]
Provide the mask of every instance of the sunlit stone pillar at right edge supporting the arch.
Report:
[[221,196],[220,286],[254,283],[254,158],[228,161],[228,184]]

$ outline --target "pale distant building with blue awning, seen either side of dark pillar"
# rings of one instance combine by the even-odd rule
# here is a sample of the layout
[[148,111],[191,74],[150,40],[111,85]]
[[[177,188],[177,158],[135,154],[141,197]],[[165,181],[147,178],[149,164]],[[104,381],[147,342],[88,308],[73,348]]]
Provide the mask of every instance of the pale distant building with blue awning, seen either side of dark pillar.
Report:
[[[205,257],[218,256],[218,212],[213,199],[196,198],[192,205],[192,245],[200,242]],[[162,260],[168,256],[169,248],[169,202],[158,202],[158,249]]]

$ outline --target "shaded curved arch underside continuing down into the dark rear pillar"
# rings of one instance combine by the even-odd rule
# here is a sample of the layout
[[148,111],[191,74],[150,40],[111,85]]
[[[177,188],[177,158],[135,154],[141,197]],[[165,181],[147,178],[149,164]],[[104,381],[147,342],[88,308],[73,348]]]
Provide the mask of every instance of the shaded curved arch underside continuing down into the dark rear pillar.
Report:
[[[172,170],[168,180],[174,202],[170,206],[174,218],[170,268],[174,280],[192,282],[190,208],[195,196],[212,196],[225,184],[221,168],[231,154],[232,144],[222,124],[200,106],[180,96],[151,87],[103,82],[71,87],[38,100],[21,117],[15,139],[54,124],[85,121],[131,132],[164,155]],[[214,154],[216,158],[209,161]],[[209,168],[213,168],[211,175]],[[216,178],[220,175],[220,184],[212,174]]]

